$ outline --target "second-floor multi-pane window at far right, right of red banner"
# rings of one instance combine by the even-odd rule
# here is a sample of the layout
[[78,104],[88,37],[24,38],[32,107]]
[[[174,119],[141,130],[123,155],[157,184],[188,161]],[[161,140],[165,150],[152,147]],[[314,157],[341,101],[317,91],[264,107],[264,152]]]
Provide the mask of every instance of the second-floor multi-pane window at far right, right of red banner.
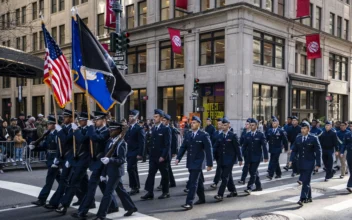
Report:
[[329,79],[348,80],[348,58],[329,54]]

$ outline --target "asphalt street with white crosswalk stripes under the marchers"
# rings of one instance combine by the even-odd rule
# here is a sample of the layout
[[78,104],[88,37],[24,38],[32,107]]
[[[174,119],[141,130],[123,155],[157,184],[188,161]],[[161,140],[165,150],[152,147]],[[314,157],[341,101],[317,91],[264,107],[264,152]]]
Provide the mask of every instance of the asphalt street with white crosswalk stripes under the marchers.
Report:
[[[295,220],[295,219],[319,219],[319,220],[347,220],[352,219],[352,194],[346,190],[346,183],[349,178],[347,175],[340,179],[339,172],[335,177],[324,182],[325,173],[312,176],[313,203],[299,207],[296,202],[299,200],[301,187],[297,184],[298,177],[291,177],[291,172],[283,171],[281,179],[268,180],[266,171],[268,163],[261,163],[259,174],[262,181],[263,191],[253,192],[247,196],[243,190],[246,185],[239,185],[242,167],[235,165],[233,177],[236,183],[236,198],[224,198],[224,201],[217,202],[214,196],[217,190],[211,189],[214,169],[210,172],[204,171],[206,204],[194,206],[190,211],[184,211],[180,206],[185,203],[186,194],[183,192],[188,171],[186,168],[186,158],[178,166],[172,163],[177,187],[170,189],[171,198],[159,200],[157,197],[160,191],[155,191],[155,199],[152,201],[141,201],[140,197],[144,191],[132,196],[133,201],[138,207],[138,213],[128,219],[270,219],[270,220]],[[281,155],[281,167],[285,165],[286,154]],[[148,174],[148,162],[139,163],[139,176],[144,188],[144,183]],[[44,184],[46,170],[11,171],[0,175],[0,219],[73,219],[70,214],[76,211],[77,207],[71,207],[68,214],[60,216],[56,212],[48,211],[43,207],[33,207],[30,202],[36,199],[41,187]],[[249,177],[247,177],[248,181]],[[128,188],[128,176],[123,178],[125,188]],[[155,187],[160,182],[160,175],[157,174]],[[55,183],[52,190],[55,190]],[[52,191],[53,192],[53,191]],[[97,190],[96,202],[99,205],[102,193]],[[90,210],[90,218],[94,218],[97,209]],[[124,210],[120,207],[118,213],[108,215],[109,219],[122,219]]]

